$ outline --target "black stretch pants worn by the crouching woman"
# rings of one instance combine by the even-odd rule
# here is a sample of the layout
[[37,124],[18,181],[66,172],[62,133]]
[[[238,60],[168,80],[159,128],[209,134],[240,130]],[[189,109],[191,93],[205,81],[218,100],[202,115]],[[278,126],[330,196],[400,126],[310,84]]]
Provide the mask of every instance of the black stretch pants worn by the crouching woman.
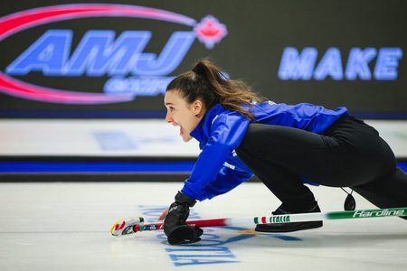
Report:
[[236,152],[291,211],[315,205],[301,179],[351,187],[380,208],[407,206],[407,174],[379,133],[355,117],[340,117],[323,135],[253,123]]

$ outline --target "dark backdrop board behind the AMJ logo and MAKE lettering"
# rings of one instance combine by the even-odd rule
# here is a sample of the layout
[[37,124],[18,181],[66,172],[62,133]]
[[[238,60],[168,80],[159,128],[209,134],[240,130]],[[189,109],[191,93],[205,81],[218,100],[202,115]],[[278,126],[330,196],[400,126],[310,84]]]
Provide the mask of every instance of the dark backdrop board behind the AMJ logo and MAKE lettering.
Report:
[[[69,2],[73,3],[84,2]],[[67,2],[4,1],[0,13],[3,17],[35,7],[59,4]],[[210,57],[232,78],[246,80],[256,91],[276,102],[310,102],[330,108],[345,105],[351,113],[368,118],[407,117],[407,68],[406,58],[402,55],[406,51],[407,30],[404,1],[222,0],[189,1],[187,5],[185,1],[120,1],[114,4],[153,7],[183,14],[196,22],[211,14],[225,25],[227,35],[222,41],[214,44],[213,49],[207,49],[202,42],[195,39],[175,70],[166,74],[167,77],[190,70],[195,61]],[[45,23],[14,33],[0,42],[0,69],[5,71],[48,30],[71,30],[71,46],[68,47],[71,56],[84,34],[93,30],[114,31],[116,39],[126,31],[149,31],[152,37],[144,52],[159,54],[172,33],[191,31],[191,27],[123,16],[76,18]],[[305,48],[312,48],[317,52],[315,64],[311,65],[313,68],[308,71],[314,72],[319,67],[319,71],[324,73],[325,67],[323,78],[315,79],[315,76],[311,75],[310,79],[294,79],[294,72],[291,72],[288,79],[280,79],[279,69],[282,69],[283,52],[287,48],[295,49],[298,53]],[[391,70],[393,78],[383,79],[385,77],[375,76],[374,70],[379,51],[389,48],[395,50],[396,54],[393,54],[392,59],[387,61],[387,66],[382,69]],[[346,78],[346,67],[352,66],[352,63],[348,63],[351,62],[349,57],[352,49],[360,49],[364,53],[362,55],[369,59],[364,61],[364,64],[368,64],[368,70],[364,67],[364,72],[370,72],[370,79],[361,79],[360,74],[355,72],[355,79]],[[375,51],[373,54],[366,51],[372,49]],[[325,61],[322,61],[327,54]],[[306,59],[305,54],[301,57],[302,60]],[[338,58],[340,62],[337,61]],[[354,63],[354,66],[357,70],[361,65]],[[337,76],[342,74],[343,78],[333,79],[333,72]],[[102,93],[110,79],[107,72],[98,76],[87,76],[86,72],[77,76],[44,75],[43,68],[32,69],[24,75],[11,76],[47,88],[95,93]],[[135,78],[129,73],[122,76],[131,77]],[[33,101],[0,92],[0,116],[163,117],[163,96],[154,94],[152,89],[150,94],[148,89],[144,90],[146,95],[154,96],[138,96],[128,102],[99,105]]]

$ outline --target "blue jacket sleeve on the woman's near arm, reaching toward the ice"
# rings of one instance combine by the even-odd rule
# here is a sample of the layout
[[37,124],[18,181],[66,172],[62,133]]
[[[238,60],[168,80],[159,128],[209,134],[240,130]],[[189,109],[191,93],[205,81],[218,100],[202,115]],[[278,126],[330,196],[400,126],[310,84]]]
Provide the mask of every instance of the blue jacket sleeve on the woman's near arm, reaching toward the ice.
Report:
[[[250,120],[240,114],[221,115],[212,124],[212,133],[194,164],[181,192],[199,201],[208,198],[205,188],[217,179],[232,150],[241,144]],[[236,186],[236,185],[235,185]]]

